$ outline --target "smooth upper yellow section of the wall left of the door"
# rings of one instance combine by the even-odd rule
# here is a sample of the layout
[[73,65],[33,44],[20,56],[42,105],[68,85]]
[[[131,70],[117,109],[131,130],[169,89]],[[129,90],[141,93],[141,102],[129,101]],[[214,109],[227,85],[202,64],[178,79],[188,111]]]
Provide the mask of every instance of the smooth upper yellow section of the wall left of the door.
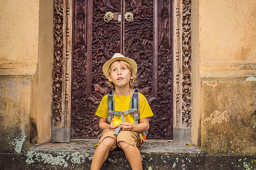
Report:
[[0,1],[0,61],[38,61],[39,1]]

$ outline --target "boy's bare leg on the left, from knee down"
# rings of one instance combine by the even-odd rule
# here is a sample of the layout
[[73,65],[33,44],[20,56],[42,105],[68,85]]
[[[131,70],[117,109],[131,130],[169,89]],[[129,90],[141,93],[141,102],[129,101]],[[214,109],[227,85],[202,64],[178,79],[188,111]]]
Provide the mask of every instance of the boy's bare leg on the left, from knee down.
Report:
[[112,137],[104,138],[100,145],[97,146],[92,160],[90,169],[100,169],[102,164],[108,158],[110,148],[114,145],[115,139]]

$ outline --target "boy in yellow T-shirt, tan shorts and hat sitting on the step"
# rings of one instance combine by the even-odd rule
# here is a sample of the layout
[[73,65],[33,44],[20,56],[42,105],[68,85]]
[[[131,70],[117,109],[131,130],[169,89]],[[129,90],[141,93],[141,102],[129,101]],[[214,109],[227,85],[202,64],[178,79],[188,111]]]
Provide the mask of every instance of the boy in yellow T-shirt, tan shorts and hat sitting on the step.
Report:
[[[109,86],[114,90],[114,111],[126,111],[130,109],[131,95],[133,94],[133,85],[137,73],[137,63],[120,53],[115,53],[112,59],[107,61],[102,67],[103,73],[108,78]],[[107,96],[102,97],[101,103],[96,111],[100,117],[100,129],[102,131],[101,139],[93,155],[91,169],[100,169],[102,164],[108,158],[109,151],[119,147],[125,151],[125,156],[132,169],[142,169],[141,137],[139,133],[147,131],[149,128],[148,117],[153,113],[147,103],[146,97],[139,93],[139,122],[134,124],[135,118],[131,114],[114,115],[110,124],[108,124],[108,102]],[[116,118],[124,118],[121,123],[121,130],[114,134],[119,125],[113,126]]]

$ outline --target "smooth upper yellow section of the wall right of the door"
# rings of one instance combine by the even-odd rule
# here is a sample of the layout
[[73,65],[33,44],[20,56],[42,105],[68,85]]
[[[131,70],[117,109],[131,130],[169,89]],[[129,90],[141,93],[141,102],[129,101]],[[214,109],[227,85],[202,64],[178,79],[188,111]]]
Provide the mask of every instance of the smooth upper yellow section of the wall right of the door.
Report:
[[199,1],[200,63],[255,63],[256,1]]

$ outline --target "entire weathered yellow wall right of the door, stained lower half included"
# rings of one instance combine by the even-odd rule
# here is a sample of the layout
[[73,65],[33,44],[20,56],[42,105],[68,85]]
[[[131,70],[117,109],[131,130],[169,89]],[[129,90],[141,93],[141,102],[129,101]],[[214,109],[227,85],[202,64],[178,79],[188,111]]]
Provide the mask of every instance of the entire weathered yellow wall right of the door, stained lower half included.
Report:
[[254,0],[192,1],[192,142],[209,154],[256,151],[255,16]]

